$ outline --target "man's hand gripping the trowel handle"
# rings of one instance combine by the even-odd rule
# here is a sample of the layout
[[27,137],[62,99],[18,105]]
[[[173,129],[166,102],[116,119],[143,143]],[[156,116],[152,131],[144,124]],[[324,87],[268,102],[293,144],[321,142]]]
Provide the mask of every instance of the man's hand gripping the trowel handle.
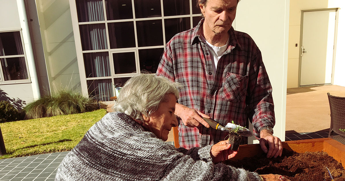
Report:
[[194,128],[201,125],[204,125],[206,128],[210,127],[210,125],[203,118],[201,118],[210,117],[194,109],[187,108],[182,104],[176,103],[175,115],[180,117],[184,125],[187,127]]

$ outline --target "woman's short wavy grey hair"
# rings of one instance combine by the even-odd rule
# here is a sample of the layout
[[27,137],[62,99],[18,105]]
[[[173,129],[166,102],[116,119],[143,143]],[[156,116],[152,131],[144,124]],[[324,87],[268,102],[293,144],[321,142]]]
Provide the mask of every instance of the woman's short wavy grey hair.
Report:
[[179,98],[179,83],[154,74],[140,74],[130,78],[122,87],[113,111],[123,112],[130,117],[144,122],[142,114],[149,117],[162,102],[168,101],[168,95]]

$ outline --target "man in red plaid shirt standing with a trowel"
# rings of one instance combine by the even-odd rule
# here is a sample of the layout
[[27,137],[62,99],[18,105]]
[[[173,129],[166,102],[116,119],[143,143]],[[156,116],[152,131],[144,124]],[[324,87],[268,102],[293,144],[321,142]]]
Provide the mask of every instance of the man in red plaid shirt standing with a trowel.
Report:
[[181,118],[180,146],[204,147],[225,139],[228,133],[208,129],[201,117],[247,128],[249,119],[267,158],[276,158],[282,154],[282,142],[273,136],[272,87],[254,40],[231,27],[237,3],[199,0],[205,18],[167,43],[156,75],[183,86],[175,111]]

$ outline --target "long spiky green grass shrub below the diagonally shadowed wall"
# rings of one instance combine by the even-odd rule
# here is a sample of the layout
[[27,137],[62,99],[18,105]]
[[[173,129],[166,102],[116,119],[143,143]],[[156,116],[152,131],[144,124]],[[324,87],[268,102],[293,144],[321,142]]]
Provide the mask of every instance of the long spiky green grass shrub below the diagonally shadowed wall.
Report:
[[33,101],[24,107],[26,119],[52,117],[55,115],[77,114],[99,109],[95,100],[78,92],[60,90]]

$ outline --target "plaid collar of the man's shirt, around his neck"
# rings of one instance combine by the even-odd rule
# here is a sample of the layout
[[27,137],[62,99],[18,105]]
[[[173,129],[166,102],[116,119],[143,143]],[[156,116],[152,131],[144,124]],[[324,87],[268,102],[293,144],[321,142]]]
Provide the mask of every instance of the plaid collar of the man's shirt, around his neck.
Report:
[[[200,38],[202,36],[201,35],[201,28],[203,26],[204,20],[205,20],[205,18],[201,19],[200,22],[198,23],[198,25],[194,28],[193,33],[192,33],[192,40],[193,41],[191,42],[191,44],[196,43],[197,40],[201,42],[201,38]],[[235,35],[235,30],[232,26],[231,26],[230,30],[228,31],[228,33],[230,36],[229,46],[238,47],[238,48],[242,49],[240,44],[237,41],[237,38]]]

